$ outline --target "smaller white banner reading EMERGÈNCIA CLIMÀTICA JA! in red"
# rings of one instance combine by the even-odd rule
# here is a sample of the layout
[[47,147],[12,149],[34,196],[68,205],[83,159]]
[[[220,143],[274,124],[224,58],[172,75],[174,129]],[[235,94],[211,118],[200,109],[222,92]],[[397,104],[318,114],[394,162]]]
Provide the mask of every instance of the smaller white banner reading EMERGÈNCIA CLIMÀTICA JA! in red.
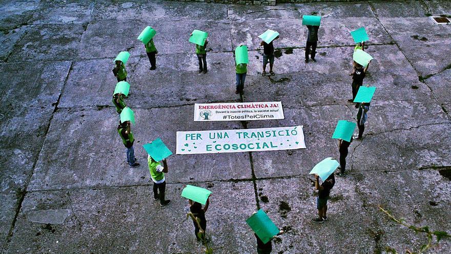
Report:
[[194,121],[284,119],[281,102],[194,104]]

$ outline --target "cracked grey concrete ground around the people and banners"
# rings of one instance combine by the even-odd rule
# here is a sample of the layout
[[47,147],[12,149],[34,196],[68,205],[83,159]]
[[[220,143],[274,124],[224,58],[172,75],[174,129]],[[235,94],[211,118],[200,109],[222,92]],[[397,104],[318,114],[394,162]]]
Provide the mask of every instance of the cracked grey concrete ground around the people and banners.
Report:
[[[119,2],[119,3],[118,3]],[[317,63],[303,61],[301,16],[319,14]],[[426,238],[378,210],[417,226],[451,231],[451,14],[449,1],[280,4],[276,7],[163,1],[2,1],[0,4],[0,239],[3,253],[201,253],[186,184],[213,191],[207,233],[214,253],[255,253],[245,224],[259,208],[286,233],[274,253],[403,252]],[[157,30],[149,71],[145,26]],[[377,87],[364,139],[351,144],[350,173],[337,178],[329,221],[313,224],[310,169],[338,157],[338,120],[352,120],[350,31],[365,26],[375,58],[365,84]],[[209,72],[197,73],[193,29],[209,35]],[[262,77],[257,35],[280,32],[275,76]],[[234,93],[234,48],[250,49],[244,95]],[[127,69],[136,114],[129,168],[111,103],[112,61]],[[285,119],[193,122],[193,104],[281,101]],[[175,150],[176,131],[303,125],[307,149],[172,155],[167,197],[152,199],[141,144]],[[429,251],[451,253],[450,242]]]

